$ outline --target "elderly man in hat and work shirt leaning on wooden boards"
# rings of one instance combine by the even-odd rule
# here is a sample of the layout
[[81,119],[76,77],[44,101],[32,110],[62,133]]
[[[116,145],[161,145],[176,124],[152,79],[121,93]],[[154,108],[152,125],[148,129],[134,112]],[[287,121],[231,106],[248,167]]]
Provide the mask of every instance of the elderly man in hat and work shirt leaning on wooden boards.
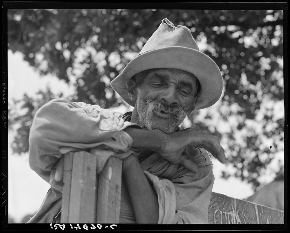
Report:
[[62,98],[37,111],[30,166],[52,186],[29,223],[54,221],[61,209],[61,158],[78,150],[95,153],[101,164],[110,156],[123,159],[137,223],[207,223],[214,182],[207,151],[224,163],[224,150],[216,137],[179,125],[193,110],[218,101],[218,66],[199,51],[188,28],[163,19],[111,85],[133,112]]

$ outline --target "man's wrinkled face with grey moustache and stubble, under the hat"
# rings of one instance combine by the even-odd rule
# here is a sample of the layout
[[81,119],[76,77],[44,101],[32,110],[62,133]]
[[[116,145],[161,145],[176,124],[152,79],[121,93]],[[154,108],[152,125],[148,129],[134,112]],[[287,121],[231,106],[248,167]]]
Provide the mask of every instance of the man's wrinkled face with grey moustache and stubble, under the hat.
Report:
[[145,129],[174,132],[187,113],[194,110],[196,78],[179,69],[145,72],[137,85],[135,108],[139,125]]

